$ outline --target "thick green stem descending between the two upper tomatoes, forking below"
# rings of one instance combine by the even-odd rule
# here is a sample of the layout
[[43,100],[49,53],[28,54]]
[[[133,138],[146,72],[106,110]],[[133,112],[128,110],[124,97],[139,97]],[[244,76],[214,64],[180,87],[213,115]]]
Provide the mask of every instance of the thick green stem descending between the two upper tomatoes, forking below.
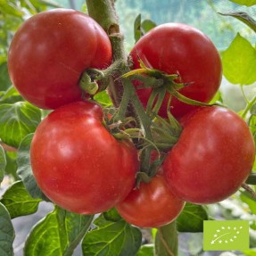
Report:
[[[113,61],[120,63],[120,69],[116,76],[121,78],[123,74],[129,71],[129,67],[123,44],[123,36],[120,33],[118,18],[113,3],[111,0],[87,0],[87,10],[89,15],[108,33],[111,40]],[[115,83],[114,87],[111,87],[111,95],[120,95],[120,91],[123,93],[117,117],[120,120],[123,119],[128,108],[128,103],[131,103],[145,132],[146,138],[151,140],[152,120],[145,113],[144,107],[136,95],[135,87],[128,78],[122,79],[122,83]]]

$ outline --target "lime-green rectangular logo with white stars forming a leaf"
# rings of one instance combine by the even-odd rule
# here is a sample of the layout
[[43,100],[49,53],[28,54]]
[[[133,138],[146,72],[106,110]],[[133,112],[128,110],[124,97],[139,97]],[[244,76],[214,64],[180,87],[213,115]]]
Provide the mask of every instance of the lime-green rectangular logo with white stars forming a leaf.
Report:
[[204,220],[204,251],[244,251],[249,249],[249,221]]

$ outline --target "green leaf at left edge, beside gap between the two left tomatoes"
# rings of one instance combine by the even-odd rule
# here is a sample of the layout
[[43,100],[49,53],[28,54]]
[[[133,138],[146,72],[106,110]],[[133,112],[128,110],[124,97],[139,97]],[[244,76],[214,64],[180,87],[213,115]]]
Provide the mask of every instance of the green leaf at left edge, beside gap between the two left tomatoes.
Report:
[[0,105],[0,137],[7,145],[18,147],[40,121],[41,111],[28,102]]

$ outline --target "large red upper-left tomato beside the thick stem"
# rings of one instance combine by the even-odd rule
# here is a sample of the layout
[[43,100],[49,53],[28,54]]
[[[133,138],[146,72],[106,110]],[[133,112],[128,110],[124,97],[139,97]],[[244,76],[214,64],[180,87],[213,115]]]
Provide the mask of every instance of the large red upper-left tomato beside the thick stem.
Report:
[[79,78],[111,64],[111,43],[87,14],[69,9],[40,12],[12,39],[8,69],[13,85],[30,103],[55,109],[81,99]]

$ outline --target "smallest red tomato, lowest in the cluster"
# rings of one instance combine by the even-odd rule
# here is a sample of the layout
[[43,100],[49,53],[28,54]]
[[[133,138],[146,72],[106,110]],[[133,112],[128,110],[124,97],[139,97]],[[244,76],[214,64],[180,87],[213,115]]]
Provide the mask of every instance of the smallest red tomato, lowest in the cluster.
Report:
[[162,175],[141,183],[116,209],[128,223],[137,227],[161,227],[176,219],[185,202],[172,194]]

